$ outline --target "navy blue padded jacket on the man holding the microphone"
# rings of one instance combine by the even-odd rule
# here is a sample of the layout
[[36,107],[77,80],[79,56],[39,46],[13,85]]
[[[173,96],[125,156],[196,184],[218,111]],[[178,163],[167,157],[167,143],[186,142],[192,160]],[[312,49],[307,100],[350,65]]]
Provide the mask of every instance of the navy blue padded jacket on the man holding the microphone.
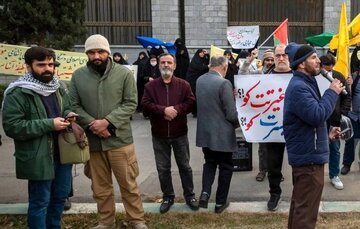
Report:
[[321,96],[315,77],[294,72],[285,92],[283,120],[291,166],[322,165],[329,161],[326,120],[337,98],[331,89]]

